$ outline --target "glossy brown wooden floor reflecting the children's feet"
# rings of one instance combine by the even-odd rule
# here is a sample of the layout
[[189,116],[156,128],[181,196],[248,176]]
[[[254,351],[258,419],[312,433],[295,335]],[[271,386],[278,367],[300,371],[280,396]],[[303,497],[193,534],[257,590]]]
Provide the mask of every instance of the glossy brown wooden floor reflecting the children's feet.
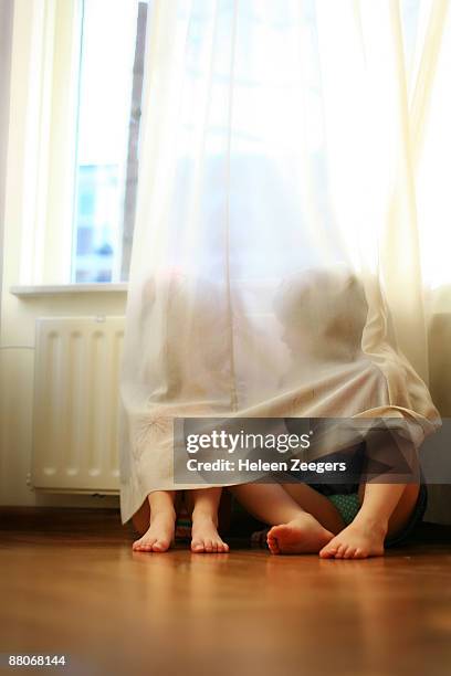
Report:
[[61,672],[83,676],[451,673],[449,542],[368,561],[144,554],[111,513],[1,516],[3,661],[65,654]]

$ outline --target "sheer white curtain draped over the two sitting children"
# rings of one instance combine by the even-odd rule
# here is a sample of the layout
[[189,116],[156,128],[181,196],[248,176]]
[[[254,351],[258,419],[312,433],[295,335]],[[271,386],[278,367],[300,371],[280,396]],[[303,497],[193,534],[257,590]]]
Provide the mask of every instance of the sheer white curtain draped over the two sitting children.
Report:
[[447,9],[153,3],[120,385],[124,521],[149,492],[182,487],[174,416],[387,415],[420,436],[436,425],[423,249],[434,261],[424,226],[441,147],[428,129],[444,119]]

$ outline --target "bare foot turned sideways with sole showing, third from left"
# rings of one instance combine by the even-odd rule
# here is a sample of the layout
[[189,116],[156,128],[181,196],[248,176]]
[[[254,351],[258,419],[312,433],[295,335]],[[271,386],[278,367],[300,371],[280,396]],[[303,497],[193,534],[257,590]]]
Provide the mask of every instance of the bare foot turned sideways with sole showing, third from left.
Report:
[[312,515],[304,513],[268,534],[268,547],[273,554],[318,553],[334,534],[326,530]]

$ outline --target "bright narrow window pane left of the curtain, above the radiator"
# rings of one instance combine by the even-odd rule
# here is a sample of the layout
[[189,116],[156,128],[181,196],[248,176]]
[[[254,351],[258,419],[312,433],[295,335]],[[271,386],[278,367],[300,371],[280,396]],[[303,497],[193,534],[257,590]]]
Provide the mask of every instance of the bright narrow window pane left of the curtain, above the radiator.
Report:
[[128,278],[147,2],[83,0],[72,282]]

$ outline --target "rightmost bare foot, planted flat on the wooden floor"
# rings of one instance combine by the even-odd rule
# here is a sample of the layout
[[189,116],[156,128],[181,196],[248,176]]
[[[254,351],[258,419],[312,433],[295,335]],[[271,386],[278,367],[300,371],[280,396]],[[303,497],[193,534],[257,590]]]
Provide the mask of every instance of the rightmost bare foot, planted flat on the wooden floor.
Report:
[[319,552],[322,559],[367,559],[384,556],[387,526],[354,519]]

